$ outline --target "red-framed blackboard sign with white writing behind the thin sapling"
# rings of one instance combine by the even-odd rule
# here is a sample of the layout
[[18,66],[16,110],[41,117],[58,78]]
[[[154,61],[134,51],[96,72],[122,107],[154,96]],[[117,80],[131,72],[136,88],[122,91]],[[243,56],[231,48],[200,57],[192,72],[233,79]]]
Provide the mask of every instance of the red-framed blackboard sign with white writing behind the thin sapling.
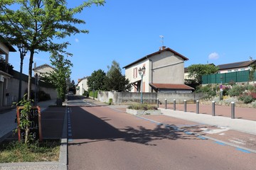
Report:
[[[20,128],[19,125],[22,119],[25,119],[21,114],[23,110],[23,106],[17,107],[17,120],[18,120],[18,141],[24,140],[26,136],[25,128]],[[28,114],[28,119],[31,122],[29,135],[33,138],[33,140],[42,140],[42,132],[41,132],[41,111],[39,106],[33,106],[31,112]]]

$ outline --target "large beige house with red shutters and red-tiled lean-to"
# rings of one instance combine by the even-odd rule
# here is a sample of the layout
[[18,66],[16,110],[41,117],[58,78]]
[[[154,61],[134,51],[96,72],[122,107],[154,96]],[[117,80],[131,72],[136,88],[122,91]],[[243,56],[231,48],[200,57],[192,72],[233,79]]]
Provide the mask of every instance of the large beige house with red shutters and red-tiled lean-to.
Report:
[[[174,92],[191,93],[193,88],[184,84],[184,62],[188,58],[169,47],[161,47],[157,52],[123,67],[125,77],[132,84],[132,92]],[[139,68],[145,67],[142,77]]]

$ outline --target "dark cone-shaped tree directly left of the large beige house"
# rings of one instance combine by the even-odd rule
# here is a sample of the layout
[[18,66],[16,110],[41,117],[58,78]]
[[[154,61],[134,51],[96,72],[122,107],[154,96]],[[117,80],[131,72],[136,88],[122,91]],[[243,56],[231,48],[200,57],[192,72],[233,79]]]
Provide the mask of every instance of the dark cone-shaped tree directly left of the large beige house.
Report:
[[113,61],[112,66],[108,67],[107,77],[105,78],[105,89],[107,91],[130,91],[132,89],[129,79],[121,73],[119,63]]

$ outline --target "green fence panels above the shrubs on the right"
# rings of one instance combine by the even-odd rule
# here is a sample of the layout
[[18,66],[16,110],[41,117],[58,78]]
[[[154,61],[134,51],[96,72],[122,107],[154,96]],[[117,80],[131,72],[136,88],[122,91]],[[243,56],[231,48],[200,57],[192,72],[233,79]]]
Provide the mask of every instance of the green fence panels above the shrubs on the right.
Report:
[[[256,80],[256,72],[254,72],[252,80]],[[247,81],[250,81],[250,70],[229,72],[223,74],[207,74],[202,76],[202,84],[226,84],[230,82]]]

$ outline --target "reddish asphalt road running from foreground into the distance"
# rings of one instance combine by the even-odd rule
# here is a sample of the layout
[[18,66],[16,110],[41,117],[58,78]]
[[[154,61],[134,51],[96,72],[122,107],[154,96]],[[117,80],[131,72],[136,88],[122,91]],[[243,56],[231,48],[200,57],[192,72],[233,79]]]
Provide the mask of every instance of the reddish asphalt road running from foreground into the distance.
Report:
[[255,169],[255,153],[147,119],[107,106],[70,106],[68,169]]

